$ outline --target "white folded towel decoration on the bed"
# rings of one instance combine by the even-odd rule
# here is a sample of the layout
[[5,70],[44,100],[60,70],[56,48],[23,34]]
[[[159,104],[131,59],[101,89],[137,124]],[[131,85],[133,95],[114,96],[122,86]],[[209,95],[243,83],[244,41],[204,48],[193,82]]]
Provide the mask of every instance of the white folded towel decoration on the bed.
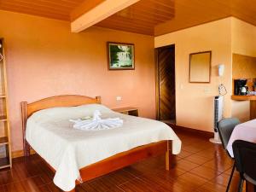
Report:
[[108,130],[113,128],[118,128],[123,125],[123,120],[119,118],[108,118],[102,119],[100,116],[102,113],[96,110],[93,113],[93,118],[88,119],[70,119],[73,122],[73,128],[84,130],[84,131],[97,131],[97,130]]

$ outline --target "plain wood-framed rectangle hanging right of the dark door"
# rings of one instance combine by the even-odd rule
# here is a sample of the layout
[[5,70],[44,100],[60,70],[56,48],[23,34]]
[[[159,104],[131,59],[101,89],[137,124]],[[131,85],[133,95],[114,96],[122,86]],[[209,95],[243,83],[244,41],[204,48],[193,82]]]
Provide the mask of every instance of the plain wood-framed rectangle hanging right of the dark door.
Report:
[[189,55],[189,83],[209,84],[211,82],[212,51]]

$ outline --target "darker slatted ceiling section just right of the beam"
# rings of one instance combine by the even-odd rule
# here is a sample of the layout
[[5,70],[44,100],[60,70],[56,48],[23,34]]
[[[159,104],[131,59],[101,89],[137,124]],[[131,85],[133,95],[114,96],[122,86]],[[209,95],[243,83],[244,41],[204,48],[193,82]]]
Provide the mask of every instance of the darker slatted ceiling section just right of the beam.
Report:
[[174,0],[141,0],[96,26],[154,35],[154,26],[174,16]]

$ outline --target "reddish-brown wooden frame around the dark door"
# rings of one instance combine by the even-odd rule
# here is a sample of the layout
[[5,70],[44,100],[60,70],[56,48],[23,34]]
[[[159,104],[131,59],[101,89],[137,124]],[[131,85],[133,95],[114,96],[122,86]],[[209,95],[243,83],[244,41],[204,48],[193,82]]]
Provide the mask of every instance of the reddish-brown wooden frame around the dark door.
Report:
[[[176,46],[175,44],[169,44],[162,47],[154,48],[154,73],[155,73],[155,118],[157,120],[160,119],[160,75],[159,75],[159,49],[165,49],[169,47],[174,47],[174,56],[176,52]],[[176,56],[174,59],[174,67],[175,67],[175,73],[174,73],[174,79],[175,79],[175,122],[177,122],[177,116],[176,116]]]

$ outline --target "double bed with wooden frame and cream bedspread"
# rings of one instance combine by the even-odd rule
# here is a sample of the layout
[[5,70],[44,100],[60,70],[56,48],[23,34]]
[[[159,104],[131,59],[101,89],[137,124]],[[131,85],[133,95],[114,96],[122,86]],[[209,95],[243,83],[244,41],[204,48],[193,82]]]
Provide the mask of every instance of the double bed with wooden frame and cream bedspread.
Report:
[[[100,110],[102,118],[119,117],[124,125],[108,131],[79,131],[68,119]],[[21,102],[24,155],[31,149],[55,172],[54,183],[64,191],[148,157],[166,154],[166,170],[174,166],[181,141],[167,125],[115,113],[101,97],[53,96]],[[54,143],[54,144],[53,144]],[[118,144],[117,144],[118,143]]]

